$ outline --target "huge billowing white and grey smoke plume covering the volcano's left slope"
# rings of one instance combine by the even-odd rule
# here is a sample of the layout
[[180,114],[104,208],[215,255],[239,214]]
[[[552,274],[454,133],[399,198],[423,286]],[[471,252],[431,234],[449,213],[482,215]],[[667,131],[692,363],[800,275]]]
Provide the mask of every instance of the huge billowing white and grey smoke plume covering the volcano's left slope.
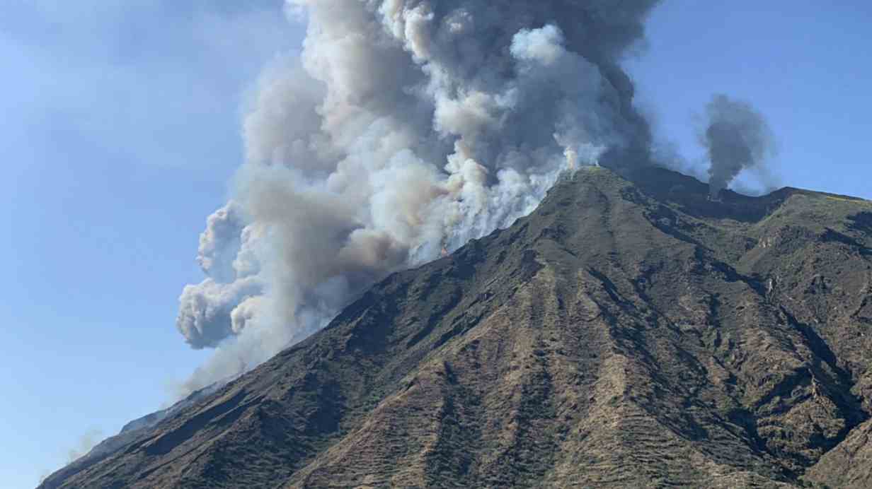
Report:
[[[564,171],[644,164],[620,68],[658,0],[288,0],[303,52],[262,73],[208,278],[177,327],[216,348],[180,394],[326,325],[393,271],[528,214]],[[629,163],[628,163],[629,162]]]

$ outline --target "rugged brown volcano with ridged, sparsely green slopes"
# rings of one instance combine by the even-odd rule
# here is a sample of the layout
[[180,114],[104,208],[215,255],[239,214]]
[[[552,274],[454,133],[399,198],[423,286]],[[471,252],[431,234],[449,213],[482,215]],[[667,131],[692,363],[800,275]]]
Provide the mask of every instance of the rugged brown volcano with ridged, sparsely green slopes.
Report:
[[41,487],[869,487],[870,289],[869,201],[585,169]]

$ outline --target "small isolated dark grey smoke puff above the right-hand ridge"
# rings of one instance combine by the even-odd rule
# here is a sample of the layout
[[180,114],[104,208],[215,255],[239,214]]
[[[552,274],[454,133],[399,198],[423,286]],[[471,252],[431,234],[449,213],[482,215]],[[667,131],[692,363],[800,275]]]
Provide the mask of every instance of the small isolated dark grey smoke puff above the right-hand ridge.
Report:
[[716,95],[705,109],[702,140],[711,161],[709,188],[717,198],[740,171],[763,170],[766,157],[774,153],[773,135],[763,116],[746,102]]

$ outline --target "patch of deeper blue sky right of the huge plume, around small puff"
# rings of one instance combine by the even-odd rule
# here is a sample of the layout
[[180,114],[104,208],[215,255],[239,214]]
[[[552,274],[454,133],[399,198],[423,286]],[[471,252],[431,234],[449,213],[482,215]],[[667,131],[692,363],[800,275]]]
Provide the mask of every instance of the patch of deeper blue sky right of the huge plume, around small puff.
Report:
[[768,119],[781,184],[872,198],[872,3],[821,5],[665,0],[628,64],[657,133],[698,161],[694,116],[723,92]]

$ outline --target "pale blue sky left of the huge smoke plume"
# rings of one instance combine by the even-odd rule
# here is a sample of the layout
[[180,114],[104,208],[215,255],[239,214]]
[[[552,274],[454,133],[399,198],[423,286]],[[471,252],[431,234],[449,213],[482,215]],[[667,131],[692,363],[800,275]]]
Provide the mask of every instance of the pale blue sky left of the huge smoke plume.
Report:
[[[244,4],[245,8],[235,7]],[[281,0],[0,6],[0,487],[152,412],[208,352],[175,331]]]

